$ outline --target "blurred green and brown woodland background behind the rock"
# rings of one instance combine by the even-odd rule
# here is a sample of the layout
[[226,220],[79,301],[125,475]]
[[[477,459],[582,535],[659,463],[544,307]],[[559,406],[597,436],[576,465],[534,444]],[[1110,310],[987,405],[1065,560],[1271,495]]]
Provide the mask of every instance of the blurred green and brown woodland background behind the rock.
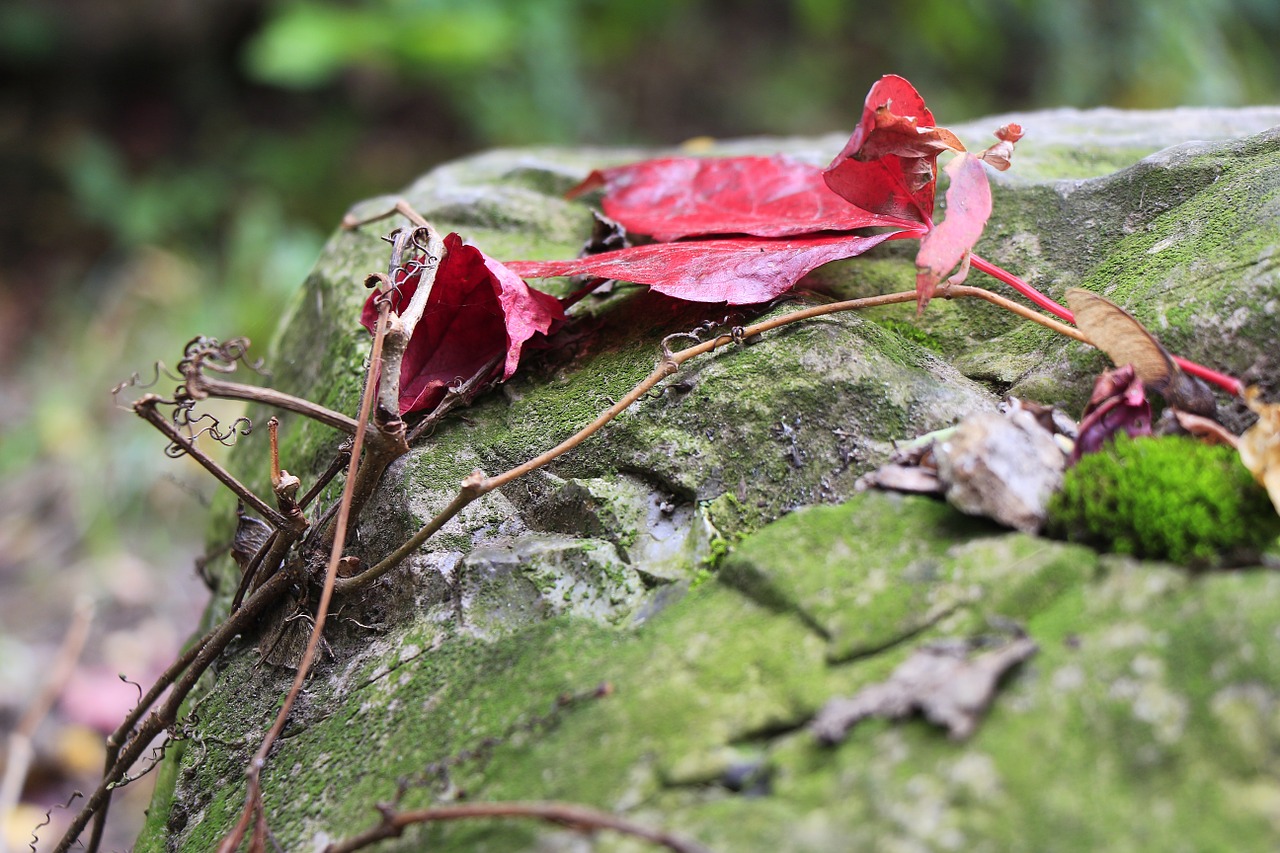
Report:
[[849,131],[888,72],[943,123],[1275,104],[1277,44],[1275,0],[0,3],[0,731],[99,603],[12,841],[206,598],[211,484],[109,389],[265,343],[353,201],[498,145]]

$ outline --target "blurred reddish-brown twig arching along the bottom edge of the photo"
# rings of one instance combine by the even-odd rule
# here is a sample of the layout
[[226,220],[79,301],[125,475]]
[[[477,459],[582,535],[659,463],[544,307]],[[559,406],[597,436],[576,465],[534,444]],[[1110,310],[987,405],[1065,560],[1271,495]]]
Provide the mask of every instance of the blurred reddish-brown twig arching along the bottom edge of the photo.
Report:
[[579,833],[609,830],[658,844],[668,850],[675,850],[675,853],[708,853],[708,849],[696,841],[635,824],[609,812],[573,803],[460,803],[457,806],[436,806],[410,812],[397,812],[388,806],[380,806],[378,811],[383,815],[381,824],[344,841],[330,844],[325,848],[324,853],[352,853],[375,841],[399,838],[407,827],[415,824],[486,817],[517,817],[547,821],[549,824],[559,824]]

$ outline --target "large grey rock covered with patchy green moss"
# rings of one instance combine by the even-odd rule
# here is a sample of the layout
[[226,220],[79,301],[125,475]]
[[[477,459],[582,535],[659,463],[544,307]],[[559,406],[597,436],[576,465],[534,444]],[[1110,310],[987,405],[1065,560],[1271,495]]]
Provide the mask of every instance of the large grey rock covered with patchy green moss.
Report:
[[[1009,118],[960,134],[978,143]],[[1280,132],[1266,128],[1280,109],[1018,120],[1028,138],[980,251],[1056,297],[1107,293],[1180,355],[1274,382]],[[1240,138],[1185,142],[1224,137]],[[822,161],[842,143],[719,150]],[[563,191],[646,155],[498,151],[406,195],[494,256],[567,256],[590,214]],[[367,343],[355,320],[360,283],[385,266],[379,228],[330,241],[273,345],[276,387],[355,410]],[[896,246],[809,282],[838,296],[913,283]],[[1280,576],[1192,575],[931,498],[855,494],[893,441],[993,410],[1009,389],[1078,410],[1103,366],[986,304],[911,313],[829,316],[690,362],[344,602],[333,657],[264,775],[279,844],[323,849],[372,826],[404,781],[406,807],[572,800],[714,850],[1274,849]],[[663,336],[722,319],[628,288],[585,305],[556,347],[392,467],[355,547],[385,555],[471,470],[506,470],[626,393]],[[282,456],[314,474],[334,442],[287,420]],[[261,483],[264,460],[244,444],[237,465]],[[230,524],[224,506],[214,538]],[[1015,626],[1039,652],[968,740],[922,720],[863,721],[836,747],[808,729],[929,643],[998,643]],[[289,678],[250,640],[228,658],[192,739],[169,751],[140,850],[212,848]],[[381,849],[641,847],[481,821]]]

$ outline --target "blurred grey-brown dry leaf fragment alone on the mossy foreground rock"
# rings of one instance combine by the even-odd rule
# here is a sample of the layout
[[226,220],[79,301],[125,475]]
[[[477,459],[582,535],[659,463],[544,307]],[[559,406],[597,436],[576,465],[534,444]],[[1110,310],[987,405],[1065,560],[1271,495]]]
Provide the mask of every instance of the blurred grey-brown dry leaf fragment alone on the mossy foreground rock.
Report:
[[943,726],[954,740],[978,727],[1001,676],[1038,651],[1027,637],[970,658],[968,642],[925,646],[906,658],[887,681],[863,688],[849,698],[831,699],[810,727],[819,740],[840,743],[867,717],[897,720],[915,712]]

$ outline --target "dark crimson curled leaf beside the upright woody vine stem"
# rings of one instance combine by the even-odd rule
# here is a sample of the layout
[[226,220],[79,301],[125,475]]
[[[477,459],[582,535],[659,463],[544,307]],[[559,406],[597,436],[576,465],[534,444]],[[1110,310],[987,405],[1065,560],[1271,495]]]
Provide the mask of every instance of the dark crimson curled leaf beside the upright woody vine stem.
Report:
[[[401,365],[402,415],[433,407],[451,384],[471,378],[503,352],[502,378],[509,378],[525,342],[549,334],[564,320],[556,297],[530,288],[457,234],[444,238],[444,248],[426,310]],[[419,278],[415,272],[399,284],[399,305],[412,298]],[[372,330],[376,319],[370,296],[360,321]]]

